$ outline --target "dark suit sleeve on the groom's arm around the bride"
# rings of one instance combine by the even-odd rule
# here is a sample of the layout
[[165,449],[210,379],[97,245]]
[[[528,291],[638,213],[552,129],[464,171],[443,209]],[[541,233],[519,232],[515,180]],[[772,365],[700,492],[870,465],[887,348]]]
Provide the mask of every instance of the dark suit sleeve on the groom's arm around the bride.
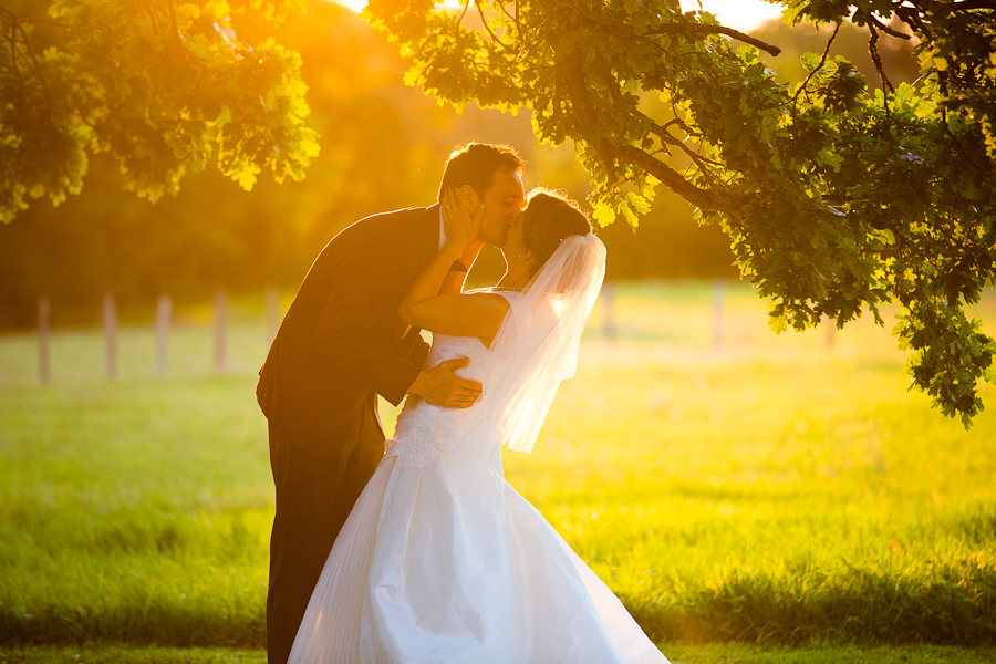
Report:
[[422,366],[373,340],[375,323],[396,299],[398,267],[393,258],[383,248],[363,246],[346,256],[329,288],[315,343],[336,369],[396,406]]

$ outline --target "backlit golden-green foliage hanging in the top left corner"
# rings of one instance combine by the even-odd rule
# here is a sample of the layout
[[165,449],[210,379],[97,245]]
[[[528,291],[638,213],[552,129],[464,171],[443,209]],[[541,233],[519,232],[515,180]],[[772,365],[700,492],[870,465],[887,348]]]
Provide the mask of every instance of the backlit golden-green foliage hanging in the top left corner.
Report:
[[263,169],[303,178],[318,143],[301,59],[249,37],[302,10],[301,0],[4,2],[0,220],[29,198],[79,194],[97,153],[151,199],[208,164],[246,189]]

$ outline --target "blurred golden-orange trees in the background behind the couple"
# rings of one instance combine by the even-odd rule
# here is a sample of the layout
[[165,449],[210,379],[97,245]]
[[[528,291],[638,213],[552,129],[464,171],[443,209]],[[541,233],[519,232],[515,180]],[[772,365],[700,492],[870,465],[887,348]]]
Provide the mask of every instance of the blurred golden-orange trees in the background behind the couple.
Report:
[[[780,21],[753,34],[782,49],[765,59],[787,82],[801,81],[799,55],[822,51],[828,37],[826,29]],[[32,326],[42,295],[52,301],[55,325],[75,325],[98,319],[104,292],[115,294],[125,319],[136,320],[163,293],[183,303],[204,301],[219,288],[293,290],[345,226],[433,203],[444,160],[469,141],[516,146],[527,162],[527,188],[554,186],[579,200],[590,191],[571,147],[538,146],[527,114],[470,106],[458,115],[405,85],[408,63],[383,32],[349,9],[313,0],[274,37],[303,58],[307,122],[320,134],[321,154],[304,180],[278,185],[260,178],[247,193],[208,169],[187,175],[178,195],[153,204],[125,190],[113,158],[97,156],[80,196],[54,208],[33,201],[0,225],[0,328]],[[910,44],[892,40],[888,46],[882,58],[893,82],[912,81],[917,64]],[[850,24],[831,53],[854,62],[870,82],[878,80],[867,35]],[[691,206],[670,193],[662,191],[637,232],[614,224],[601,235],[610,250],[610,279],[737,277],[728,238],[716,226],[698,227]],[[476,278],[496,278],[500,269],[500,257],[489,252]]]

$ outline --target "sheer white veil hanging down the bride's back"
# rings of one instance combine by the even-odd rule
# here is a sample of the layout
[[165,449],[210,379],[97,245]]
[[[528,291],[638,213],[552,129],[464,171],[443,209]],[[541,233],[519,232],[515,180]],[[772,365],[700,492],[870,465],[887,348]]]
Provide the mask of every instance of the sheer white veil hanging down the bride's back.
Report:
[[574,375],[581,333],[605,278],[605,246],[568,236],[517,297],[491,342],[481,409],[450,463],[471,489],[502,444],[531,452],[560,382]]

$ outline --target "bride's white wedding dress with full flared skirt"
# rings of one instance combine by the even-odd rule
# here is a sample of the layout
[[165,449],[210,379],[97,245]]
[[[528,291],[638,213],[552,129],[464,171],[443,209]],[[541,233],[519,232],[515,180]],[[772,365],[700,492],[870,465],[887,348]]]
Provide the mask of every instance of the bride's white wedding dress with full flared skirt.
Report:
[[[488,353],[477,339],[437,334],[429,363],[468,357],[460,373],[483,381]],[[290,662],[667,663],[505,480],[507,423],[477,417],[501,413],[484,388],[466,409],[405,406],[335,540]]]

